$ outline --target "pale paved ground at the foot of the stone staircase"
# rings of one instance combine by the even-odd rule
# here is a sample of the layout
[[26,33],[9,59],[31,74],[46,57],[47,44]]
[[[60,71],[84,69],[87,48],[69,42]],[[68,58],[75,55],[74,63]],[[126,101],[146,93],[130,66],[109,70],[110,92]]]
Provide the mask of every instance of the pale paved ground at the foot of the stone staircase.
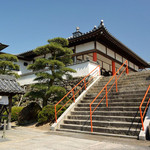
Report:
[[7,131],[0,150],[150,150],[150,141],[87,134],[51,132],[27,127]]

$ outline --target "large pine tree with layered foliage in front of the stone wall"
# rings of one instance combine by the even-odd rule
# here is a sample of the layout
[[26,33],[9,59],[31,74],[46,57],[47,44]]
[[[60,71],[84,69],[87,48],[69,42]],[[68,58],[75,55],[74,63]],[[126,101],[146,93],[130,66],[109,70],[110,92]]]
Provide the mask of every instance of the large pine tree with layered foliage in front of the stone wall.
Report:
[[[37,55],[42,55],[43,58],[36,59],[33,64],[28,66],[28,69],[37,71],[35,80],[38,82],[31,86],[32,91],[26,96],[35,99],[41,98],[43,107],[47,105],[52,95],[57,97],[66,93],[63,87],[54,85],[54,82],[59,83],[64,76],[68,78],[71,76],[70,72],[75,72],[75,70],[66,67],[72,63],[72,50],[67,47],[68,44],[68,40],[58,37],[48,40],[47,45],[34,50]],[[41,71],[44,69],[49,71]]]

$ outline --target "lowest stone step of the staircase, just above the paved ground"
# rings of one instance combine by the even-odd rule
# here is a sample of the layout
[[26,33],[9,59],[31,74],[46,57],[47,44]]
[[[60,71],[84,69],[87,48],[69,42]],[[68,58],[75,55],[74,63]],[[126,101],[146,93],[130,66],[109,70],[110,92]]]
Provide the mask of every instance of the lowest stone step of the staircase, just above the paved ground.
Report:
[[[80,131],[91,131],[90,126],[83,126],[83,125],[62,124],[62,125],[60,125],[60,128],[61,129],[64,128],[64,129],[80,130]],[[140,130],[139,129],[129,129],[129,128],[114,128],[114,127],[105,128],[105,127],[93,126],[93,132],[103,132],[103,133],[138,136]]]

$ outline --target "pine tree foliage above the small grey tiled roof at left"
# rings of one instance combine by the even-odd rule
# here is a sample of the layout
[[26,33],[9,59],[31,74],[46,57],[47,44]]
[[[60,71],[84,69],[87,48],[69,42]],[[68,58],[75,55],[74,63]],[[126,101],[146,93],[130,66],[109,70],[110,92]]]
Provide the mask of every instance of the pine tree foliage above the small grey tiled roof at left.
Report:
[[14,75],[19,77],[14,70],[19,70],[19,66],[15,64],[18,58],[11,54],[0,54],[0,74]]

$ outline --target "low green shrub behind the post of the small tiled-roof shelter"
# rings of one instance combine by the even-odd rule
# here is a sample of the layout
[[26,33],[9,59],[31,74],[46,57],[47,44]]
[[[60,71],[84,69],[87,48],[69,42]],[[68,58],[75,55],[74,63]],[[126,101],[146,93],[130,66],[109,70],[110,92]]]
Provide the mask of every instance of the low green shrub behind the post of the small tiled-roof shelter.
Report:
[[[18,121],[18,116],[19,116],[19,113],[20,113],[20,111],[23,109],[23,107],[16,107],[16,106],[13,106],[12,107],[12,110],[11,110],[11,122],[13,122],[13,121]],[[5,115],[4,117],[3,117],[3,119],[8,119],[8,117],[6,117],[6,115],[7,115],[7,112],[5,111],[4,113],[3,113],[3,115]]]

